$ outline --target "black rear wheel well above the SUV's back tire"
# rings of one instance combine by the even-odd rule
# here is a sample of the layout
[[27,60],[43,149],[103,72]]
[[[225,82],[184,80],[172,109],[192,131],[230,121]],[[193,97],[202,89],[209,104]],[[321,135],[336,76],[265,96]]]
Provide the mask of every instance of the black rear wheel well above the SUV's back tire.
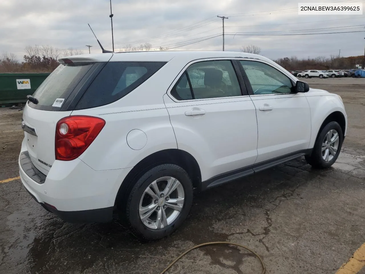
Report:
[[195,158],[190,153],[181,149],[165,149],[147,156],[132,168],[119,187],[115,199],[115,206],[117,208],[123,206],[123,201],[126,201],[127,195],[135,182],[151,168],[161,164],[176,164],[184,168],[192,180],[193,187],[200,187],[201,173],[199,164]]

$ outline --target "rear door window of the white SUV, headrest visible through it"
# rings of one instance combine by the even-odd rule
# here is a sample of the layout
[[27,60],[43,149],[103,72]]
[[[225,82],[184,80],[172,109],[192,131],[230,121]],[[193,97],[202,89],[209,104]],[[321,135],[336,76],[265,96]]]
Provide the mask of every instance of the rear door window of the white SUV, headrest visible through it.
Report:
[[178,100],[242,95],[236,72],[229,60],[192,64],[180,77],[171,94]]

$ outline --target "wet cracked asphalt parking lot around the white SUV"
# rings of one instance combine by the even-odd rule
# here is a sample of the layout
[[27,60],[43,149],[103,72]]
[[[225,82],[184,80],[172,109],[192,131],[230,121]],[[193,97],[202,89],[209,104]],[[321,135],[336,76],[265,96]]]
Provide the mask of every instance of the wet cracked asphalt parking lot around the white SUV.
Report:
[[[348,133],[337,163],[303,159],[195,195],[172,236],[140,243],[118,222],[68,224],[24,190],[18,174],[22,111],[0,109],[0,273],[160,273],[196,244],[249,246],[270,274],[336,273],[365,243],[365,79],[306,79],[342,96]],[[365,264],[354,256],[352,272]],[[340,270],[341,271],[341,270]],[[343,269],[342,271],[346,271]],[[257,258],[229,246],[192,251],[167,273],[261,273]]]

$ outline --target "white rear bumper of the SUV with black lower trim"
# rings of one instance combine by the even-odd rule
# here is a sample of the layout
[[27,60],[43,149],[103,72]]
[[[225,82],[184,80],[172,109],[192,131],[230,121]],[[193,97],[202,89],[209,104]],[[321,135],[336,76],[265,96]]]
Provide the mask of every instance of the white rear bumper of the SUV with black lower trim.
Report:
[[[56,160],[46,176],[29,168],[29,163],[24,164],[27,153],[23,152],[24,145],[18,161],[20,179],[44,208],[68,222],[112,220],[120,184],[132,168],[95,171],[80,159]],[[45,179],[37,182],[42,175]]]

